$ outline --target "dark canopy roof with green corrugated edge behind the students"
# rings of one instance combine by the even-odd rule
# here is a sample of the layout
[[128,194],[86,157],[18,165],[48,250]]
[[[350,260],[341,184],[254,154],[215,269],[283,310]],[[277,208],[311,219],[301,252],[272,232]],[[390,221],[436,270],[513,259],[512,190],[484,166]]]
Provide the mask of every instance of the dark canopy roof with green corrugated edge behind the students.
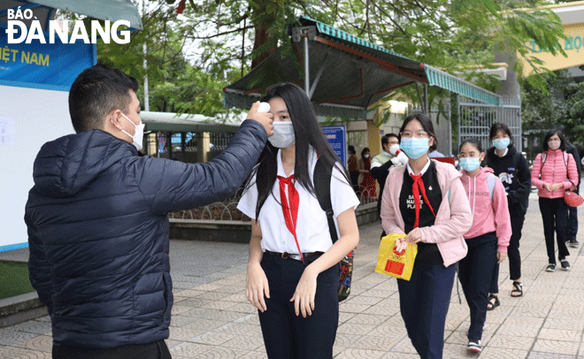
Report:
[[439,86],[500,105],[499,95],[314,19],[299,18],[288,33],[293,40],[292,52],[276,50],[224,88],[225,107],[249,108],[265,88],[282,81],[308,89],[315,110],[322,116],[364,118],[373,103],[413,83]]

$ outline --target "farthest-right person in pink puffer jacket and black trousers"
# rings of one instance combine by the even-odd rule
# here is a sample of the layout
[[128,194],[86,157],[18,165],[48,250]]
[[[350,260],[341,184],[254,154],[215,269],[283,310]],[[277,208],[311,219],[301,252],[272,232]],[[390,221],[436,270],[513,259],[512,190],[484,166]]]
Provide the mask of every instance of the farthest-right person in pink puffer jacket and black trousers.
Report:
[[554,252],[554,225],[557,233],[557,256],[564,271],[570,269],[565,259],[570,256],[565,245],[565,226],[568,207],[564,202],[564,192],[578,185],[578,169],[571,154],[565,152],[565,138],[560,130],[551,130],[543,139],[543,153],[535,157],[531,170],[531,183],[539,189],[540,210],[542,211],[543,235],[548,250],[546,271],[556,271]]

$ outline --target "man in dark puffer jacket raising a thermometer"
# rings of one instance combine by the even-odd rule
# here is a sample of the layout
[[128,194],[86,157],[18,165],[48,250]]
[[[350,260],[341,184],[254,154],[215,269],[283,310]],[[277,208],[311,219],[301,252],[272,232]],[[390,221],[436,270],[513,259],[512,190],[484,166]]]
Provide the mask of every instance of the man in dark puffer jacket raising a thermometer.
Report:
[[205,164],[140,157],[138,82],[95,65],[73,82],[77,134],[42,146],[28,195],[30,281],[52,322],[53,358],[169,358],[168,212],[233,195],[273,133],[258,103]]

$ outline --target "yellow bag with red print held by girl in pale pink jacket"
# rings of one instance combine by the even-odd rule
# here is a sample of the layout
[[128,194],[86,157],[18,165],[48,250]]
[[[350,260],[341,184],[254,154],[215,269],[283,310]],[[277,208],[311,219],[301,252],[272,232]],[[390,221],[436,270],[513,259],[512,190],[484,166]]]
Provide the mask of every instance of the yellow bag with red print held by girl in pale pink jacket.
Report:
[[403,233],[389,233],[381,239],[375,271],[399,279],[410,280],[418,245],[408,243],[401,252],[396,251],[396,239],[405,237]]

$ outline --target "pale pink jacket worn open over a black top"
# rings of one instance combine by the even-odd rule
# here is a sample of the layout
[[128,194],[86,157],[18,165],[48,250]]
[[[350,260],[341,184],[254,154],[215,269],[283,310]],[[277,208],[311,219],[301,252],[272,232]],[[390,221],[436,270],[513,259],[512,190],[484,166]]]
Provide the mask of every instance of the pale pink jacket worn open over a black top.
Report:
[[[438,182],[442,191],[442,204],[436,212],[434,225],[420,227],[421,241],[436,243],[444,266],[457,263],[466,256],[463,234],[471,228],[473,213],[460,182],[460,173],[452,164],[432,160],[436,165]],[[403,172],[407,165],[394,167],[389,171],[381,200],[381,226],[385,233],[404,233],[403,218],[399,210],[399,195],[403,185]],[[449,205],[450,204],[450,205]]]

